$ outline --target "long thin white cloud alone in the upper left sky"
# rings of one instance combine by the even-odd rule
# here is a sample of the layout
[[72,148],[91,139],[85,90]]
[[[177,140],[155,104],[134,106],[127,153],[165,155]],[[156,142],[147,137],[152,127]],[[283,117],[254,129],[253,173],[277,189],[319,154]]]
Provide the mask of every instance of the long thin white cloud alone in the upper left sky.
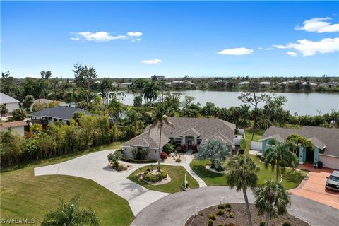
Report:
[[[106,31],[97,32],[77,32],[73,33],[75,37],[71,37],[71,40],[87,40],[94,42],[108,42],[110,40],[141,40],[141,32],[127,32],[127,35],[111,35]],[[137,38],[136,38],[137,37]]]

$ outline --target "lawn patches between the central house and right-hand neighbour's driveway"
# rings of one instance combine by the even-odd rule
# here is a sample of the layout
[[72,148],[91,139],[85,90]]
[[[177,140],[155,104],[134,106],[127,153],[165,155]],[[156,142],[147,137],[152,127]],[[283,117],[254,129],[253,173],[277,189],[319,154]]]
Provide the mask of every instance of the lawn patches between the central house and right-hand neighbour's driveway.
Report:
[[[258,185],[263,184],[268,179],[275,180],[275,169],[272,171],[271,167],[268,166],[266,169],[265,165],[258,160],[258,158],[253,157],[256,161],[258,167],[260,167],[260,171],[258,173],[259,180]],[[198,176],[203,179],[203,181],[208,186],[223,186],[227,185],[225,174],[218,174],[215,172],[211,172],[210,170],[205,168],[205,165],[209,164],[209,160],[199,161],[193,160],[190,164],[191,169],[198,174]],[[283,185],[286,189],[294,189],[299,186],[300,182],[304,179],[306,174],[304,172],[296,172],[292,173],[290,169],[286,169],[283,173]],[[280,180],[280,178],[279,178]]]

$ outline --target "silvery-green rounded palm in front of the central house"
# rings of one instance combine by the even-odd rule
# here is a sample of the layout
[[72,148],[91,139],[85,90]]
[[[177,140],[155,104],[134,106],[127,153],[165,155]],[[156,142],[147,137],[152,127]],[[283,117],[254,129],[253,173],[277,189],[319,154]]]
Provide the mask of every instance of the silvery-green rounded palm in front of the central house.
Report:
[[227,157],[230,157],[230,150],[224,141],[220,139],[208,139],[200,145],[198,145],[198,153],[196,153],[197,160],[209,159],[211,164],[210,167],[222,170],[222,167],[216,167],[216,163],[220,165],[221,162],[225,161]]

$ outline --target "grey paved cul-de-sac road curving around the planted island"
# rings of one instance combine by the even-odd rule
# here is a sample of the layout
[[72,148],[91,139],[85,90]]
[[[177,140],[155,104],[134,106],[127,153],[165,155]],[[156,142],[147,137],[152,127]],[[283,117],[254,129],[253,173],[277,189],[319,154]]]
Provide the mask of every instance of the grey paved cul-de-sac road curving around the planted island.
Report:
[[[254,202],[254,195],[247,192],[250,203]],[[242,192],[229,189],[227,186],[211,186],[192,189],[165,196],[141,210],[133,226],[181,226],[186,220],[198,210],[213,206],[225,197],[226,202],[244,203]],[[309,222],[310,225],[328,226],[338,225],[339,210],[330,206],[311,201],[299,196],[291,196],[289,213]]]

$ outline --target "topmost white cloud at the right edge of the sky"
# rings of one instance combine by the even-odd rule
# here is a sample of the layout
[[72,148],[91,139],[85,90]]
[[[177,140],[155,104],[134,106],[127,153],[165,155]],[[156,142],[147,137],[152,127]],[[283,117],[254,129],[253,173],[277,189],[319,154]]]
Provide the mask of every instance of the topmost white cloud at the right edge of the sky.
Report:
[[327,20],[332,20],[331,17],[326,18],[311,18],[305,20],[302,27],[296,26],[295,30],[305,30],[307,32],[339,32],[339,23],[329,23]]

